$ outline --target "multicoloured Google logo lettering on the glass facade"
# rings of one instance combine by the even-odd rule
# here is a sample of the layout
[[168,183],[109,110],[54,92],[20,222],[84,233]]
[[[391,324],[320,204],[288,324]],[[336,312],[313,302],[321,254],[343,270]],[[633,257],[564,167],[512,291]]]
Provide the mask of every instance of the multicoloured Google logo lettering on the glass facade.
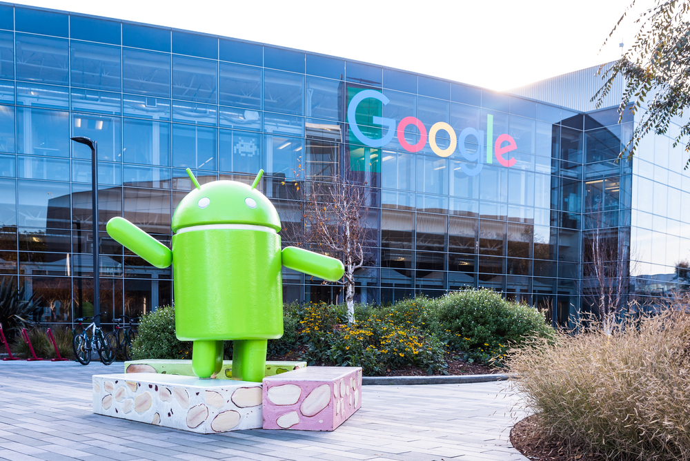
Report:
[[[370,137],[367,137],[366,135],[364,135],[364,133],[362,133],[362,130],[359,129],[357,121],[355,121],[355,113],[357,112],[357,106],[359,106],[359,104],[365,99],[370,98],[381,101],[381,103],[384,106],[388,104],[388,102],[390,102],[390,99],[388,99],[386,95],[384,95],[382,92],[376,90],[364,90],[358,92],[357,95],[353,97],[347,109],[347,121],[350,126],[350,130],[353,133],[353,135],[355,135],[355,137],[359,140],[359,142],[364,144],[364,146],[380,148],[386,146],[386,144],[393,140],[393,136],[397,135],[397,141],[400,142],[402,148],[404,148],[408,152],[416,153],[422,150],[424,146],[426,146],[426,141],[428,140],[431,150],[433,150],[433,153],[435,153],[439,157],[450,157],[451,155],[453,155],[455,149],[457,148],[457,150],[460,151],[460,155],[462,155],[464,159],[468,161],[477,161],[477,166],[475,166],[475,168],[463,168],[463,171],[464,173],[466,173],[466,175],[475,176],[478,175],[482,170],[482,167],[484,166],[484,164],[482,164],[481,162],[482,153],[484,150],[484,146],[482,143],[482,139],[484,139],[483,130],[476,130],[475,128],[465,128],[458,136],[456,135],[455,130],[453,130],[453,127],[451,127],[449,124],[446,124],[446,122],[444,121],[437,121],[435,124],[433,124],[433,126],[431,126],[431,130],[429,130],[427,133],[426,126],[424,126],[424,124],[422,124],[422,121],[420,119],[417,119],[416,117],[405,117],[400,121],[400,123],[396,125],[395,119],[374,116],[372,117],[372,121],[374,124],[387,128],[386,135],[384,135],[380,139],[371,139]],[[405,139],[405,128],[407,128],[409,125],[414,125],[417,127],[417,130],[420,130],[420,140],[417,142],[417,144],[410,144]],[[440,131],[445,131],[446,133],[448,133],[450,138],[449,146],[444,149],[440,148],[436,142],[436,135]],[[469,152],[465,147],[465,141],[469,137],[474,137],[476,139],[477,144],[480,146],[480,148],[478,148],[475,152]],[[504,133],[497,137],[495,143],[493,143],[492,140],[493,115],[487,115],[486,163],[493,163],[493,156],[495,155],[498,163],[502,166],[508,168],[515,165],[515,162],[517,161],[515,160],[515,157],[511,157],[510,159],[505,159],[504,157],[506,153],[511,152],[511,150],[517,149],[515,139],[513,139],[511,135],[506,135]]]

